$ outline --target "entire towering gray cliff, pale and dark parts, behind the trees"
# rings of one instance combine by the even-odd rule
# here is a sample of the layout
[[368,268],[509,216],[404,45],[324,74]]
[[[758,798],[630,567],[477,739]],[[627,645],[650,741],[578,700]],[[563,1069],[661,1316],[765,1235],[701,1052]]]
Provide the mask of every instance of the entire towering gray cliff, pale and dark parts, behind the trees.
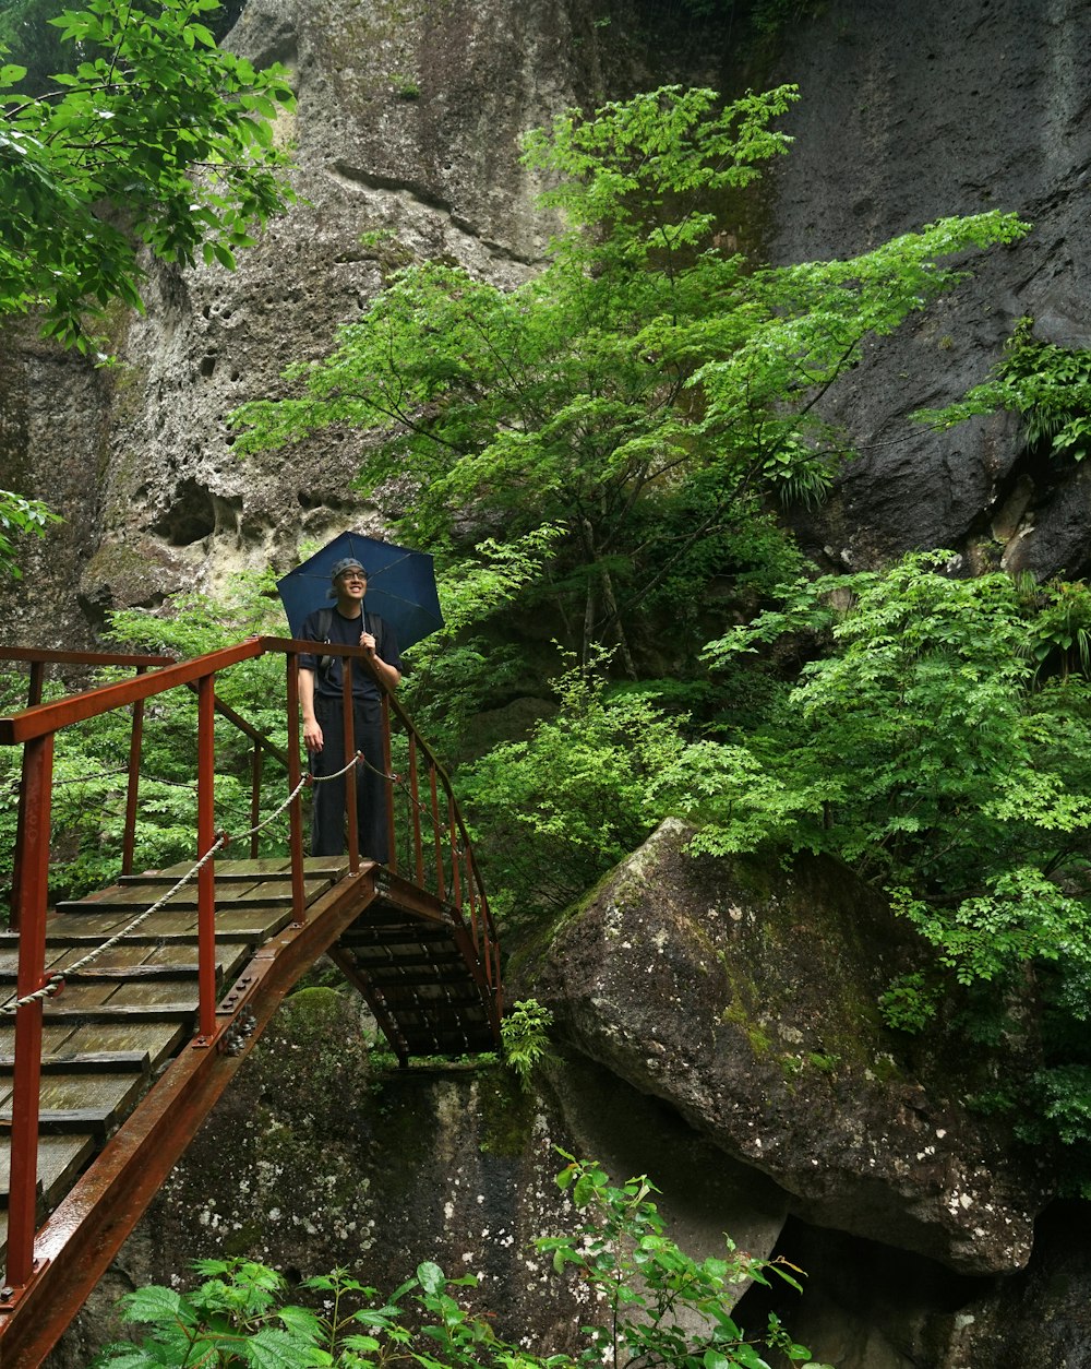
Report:
[[[70,522],[48,553],[29,550],[18,598],[0,587],[4,638],[68,645],[114,605],[215,587],[238,567],[285,568],[301,541],[379,524],[382,511],[350,487],[357,437],[242,463],[226,416],[282,393],[283,367],[326,350],[413,255],[497,281],[524,275],[548,229],[517,134],[578,97],[664,78],[727,92],[801,85],[795,144],[761,211],[775,260],[846,256],[997,207],[1035,225],[838,389],[834,416],[861,456],[819,515],[799,513],[808,546],[835,564],[949,546],[968,564],[1003,557],[1039,576],[1086,570],[1075,470],[1024,456],[1007,418],[935,435],[906,413],[981,379],[1024,314],[1046,338],[1091,338],[1087,7],[924,0],[893,14],[882,0],[835,0],[788,22],[760,71],[738,38],[734,22],[697,34],[679,5],[642,0],[605,16],[583,0],[248,0],[230,42],[294,71],[298,110],[281,134],[297,148],[301,203],[234,274],[157,270],[146,316],[114,324],[122,366],[111,372],[8,335],[4,465]],[[365,230],[389,231],[390,251],[363,248]],[[1021,481],[1031,497],[999,538],[994,515]]]

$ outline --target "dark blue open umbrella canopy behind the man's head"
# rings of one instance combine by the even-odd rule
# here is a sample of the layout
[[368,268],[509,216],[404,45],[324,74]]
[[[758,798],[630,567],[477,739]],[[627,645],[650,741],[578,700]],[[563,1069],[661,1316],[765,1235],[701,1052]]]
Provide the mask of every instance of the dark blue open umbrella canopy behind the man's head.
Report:
[[393,628],[400,650],[444,626],[427,552],[411,552],[361,533],[342,533],[277,580],[293,637],[300,635],[308,613],[333,602],[330,571],[345,556],[355,557],[367,571],[364,611],[378,613]]

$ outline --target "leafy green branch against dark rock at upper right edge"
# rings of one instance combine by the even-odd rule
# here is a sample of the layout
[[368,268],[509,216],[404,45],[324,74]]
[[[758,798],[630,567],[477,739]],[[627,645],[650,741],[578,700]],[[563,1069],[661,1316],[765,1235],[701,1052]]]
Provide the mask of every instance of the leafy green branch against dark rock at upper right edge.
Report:
[[1042,342],[1034,319],[1023,318],[987,381],[957,404],[914,418],[945,430],[997,409],[1021,415],[1028,446],[1081,461],[1091,450],[1091,349]]

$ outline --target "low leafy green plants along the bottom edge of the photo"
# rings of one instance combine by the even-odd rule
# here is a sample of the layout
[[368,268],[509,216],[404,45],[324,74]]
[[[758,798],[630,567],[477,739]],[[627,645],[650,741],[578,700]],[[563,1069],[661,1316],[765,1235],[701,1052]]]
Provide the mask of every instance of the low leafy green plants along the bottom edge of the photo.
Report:
[[730,1242],[726,1258],[694,1261],[664,1235],[645,1179],[616,1188],[598,1165],[572,1161],[557,1184],[583,1224],[572,1236],[541,1239],[538,1249],[552,1254],[557,1272],[575,1268],[609,1313],[606,1325],[583,1328],[586,1347],[575,1359],[504,1340],[487,1313],[460,1302],[474,1276],[448,1279],[431,1261],[386,1299],[345,1270],[307,1279],[296,1291],[320,1301],[311,1312],[285,1305],[283,1277],[263,1265],[203,1259],[196,1269],[204,1283],[189,1294],[149,1287],[122,1298],[123,1320],[149,1331],[140,1344],[108,1346],[93,1369],[364,1369],[398,1361],[420,1369],[575,1369],[601,1364],[611,1347],[617,1369],[635,1361],[647,1369],[769,1369],[756,1346],[802,1369],[828,1369],[776,1317],[754,1340],[731,1318],[746,1281],[773,1275],[798,1288],[791,1265],[741,1254]]

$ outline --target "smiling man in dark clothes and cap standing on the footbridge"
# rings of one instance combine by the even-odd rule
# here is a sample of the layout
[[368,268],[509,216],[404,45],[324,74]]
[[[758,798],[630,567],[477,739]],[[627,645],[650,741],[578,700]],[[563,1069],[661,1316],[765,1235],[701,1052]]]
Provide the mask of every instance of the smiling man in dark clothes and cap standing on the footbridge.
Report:
[[[367,571],[353,557],[337,561],[330,572],[334,608],[311,613],[300,630],[303,641],[363,646],[389,690],[401,682],[401,654],[392,628],[364,608]],[[303,741],[311,753],[312,773],[333,775],[345,765],[341,713],[342,658],[300,657]],[[381,864],[387,850],[387,782],[383,772],[382,708],[371,675],[359,665],[352,672],[352,713],[356,749],[364,761],[356,769],[356,830],[360,854]],[[345,776],[313,786],[312,856],[339,856],[345,850]]]

